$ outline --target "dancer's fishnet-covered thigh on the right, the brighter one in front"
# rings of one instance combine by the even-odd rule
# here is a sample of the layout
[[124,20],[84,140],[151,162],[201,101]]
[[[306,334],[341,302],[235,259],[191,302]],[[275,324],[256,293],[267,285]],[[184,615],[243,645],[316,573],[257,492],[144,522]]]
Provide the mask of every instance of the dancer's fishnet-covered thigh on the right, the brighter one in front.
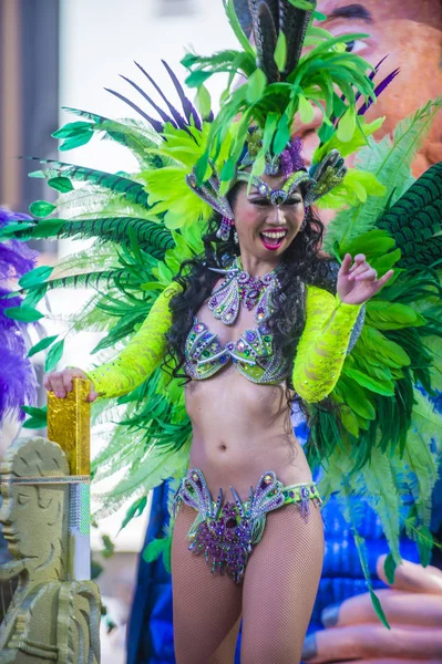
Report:
[[267,516],[247,564],[243,591],[241,664],[297,664],[323,559],[320,510],[306,522],[296,505]]

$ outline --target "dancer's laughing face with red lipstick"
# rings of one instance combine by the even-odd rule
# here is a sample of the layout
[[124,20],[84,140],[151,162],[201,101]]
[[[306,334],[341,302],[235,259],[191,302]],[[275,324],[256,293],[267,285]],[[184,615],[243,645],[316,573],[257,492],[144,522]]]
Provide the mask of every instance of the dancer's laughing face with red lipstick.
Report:
[[[285,181],[280,176],[263,175],[260,179],[273,190],[280,189]],[[254,185],[247,194],[246,183],[238,185],[233,211],[241,255],[246,251],[254,258],[269,262],[279,259],[294,241],[305,214],[299,188],[282,205],[273,205]]]

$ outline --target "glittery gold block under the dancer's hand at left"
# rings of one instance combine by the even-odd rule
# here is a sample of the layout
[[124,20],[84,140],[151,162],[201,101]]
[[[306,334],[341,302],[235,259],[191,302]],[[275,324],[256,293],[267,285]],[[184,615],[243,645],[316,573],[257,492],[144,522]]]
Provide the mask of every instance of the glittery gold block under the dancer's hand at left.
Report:
[[71,475],[91,474],[90,381],[74,378],[65,398],[48,394],[48,437],[68,456]]

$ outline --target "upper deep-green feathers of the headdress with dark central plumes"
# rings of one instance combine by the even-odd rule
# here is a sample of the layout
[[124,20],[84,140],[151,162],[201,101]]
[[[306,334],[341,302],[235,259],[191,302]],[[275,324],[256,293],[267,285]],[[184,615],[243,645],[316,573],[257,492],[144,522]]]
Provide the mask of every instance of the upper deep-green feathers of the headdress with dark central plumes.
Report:
[[[253,175],[264,172],[268,153],[280,155],[286,148],[298,112],[301,122],[309,122],[315,106],[320,108],[319,135],[323,141],[335,133],[341,141],[350,141],[357,126],[363,135],[356,101],[360,95],[366,103],[376,98],[373,82],[367,74],[373,68],[360,56],[348,53],[346,43],[367,35],[335,38],[315,28],[316,1],[250,0],[254,46],[240,27],[233,0],[223,2],[241,50],[222,51],[210,56],[188,53],[182,61],[189,70],[186,83],[198,90],[198,98],[208,97],[205,89],[208,79],[217,73],[228,74],[207,148],[195,167],[199,183],[205,179],[209,162],[218,157],[238,116],[236,135],[219,174],[222,194],[232,186],[250,125],[257,125],[263,132]],[[309,50],[301,55],[304,46]],[[243,82],[234,85],[238,77]],[[340,118],[337,126],[336,118]]]

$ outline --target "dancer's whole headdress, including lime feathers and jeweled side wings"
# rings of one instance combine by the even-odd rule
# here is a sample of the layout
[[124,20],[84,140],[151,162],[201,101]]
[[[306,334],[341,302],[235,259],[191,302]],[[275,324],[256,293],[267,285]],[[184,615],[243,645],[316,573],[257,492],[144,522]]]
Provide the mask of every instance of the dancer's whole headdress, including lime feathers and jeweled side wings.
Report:
[[[166,142],[157,154],[168,157],[171,166],[142,174],[153,210],[166,211],[166,226],[177,228],[197,219],[207,221],[213,208],[228,220],[229,228],[229,189],[245,179],[246,167],[249,185],[263,173],[279,173],[285,153],[294,151],[295,115],[299,113],[301,122],[309,122],[315,106],[320,108],[322,124],[313,166],[307,175],[301,163],[289,174],[298,174],[306,205],[321,198],[321,207],[341,207],[366,200],[368,195],[382,196],[384,188],[372,174],[348,172],[341,158],[367,145],[368,136],[382,124],[379,120],[368,125],[356,110],[358,97],[366,106],[376,100],[373,73],[367,74],[373,68],[346,51],[347,42],[362,35],[335,38],[315,28],[313,0],[249,0],[253,45],[234,0],[223,2],[241,50],[207,58],[187,53],[183,59],[189,71],[186,83],[197,89],[199,112],[206,122],[192,129],[193,142],[188,128],[174,129],[172,136],[165,126]],[[301,56],[304,46],[309,50]],[[220,111],[213,118],[205,83],[216,73],[227,73],[228,80]],[[199,201],[185,191],[185,181]]]

